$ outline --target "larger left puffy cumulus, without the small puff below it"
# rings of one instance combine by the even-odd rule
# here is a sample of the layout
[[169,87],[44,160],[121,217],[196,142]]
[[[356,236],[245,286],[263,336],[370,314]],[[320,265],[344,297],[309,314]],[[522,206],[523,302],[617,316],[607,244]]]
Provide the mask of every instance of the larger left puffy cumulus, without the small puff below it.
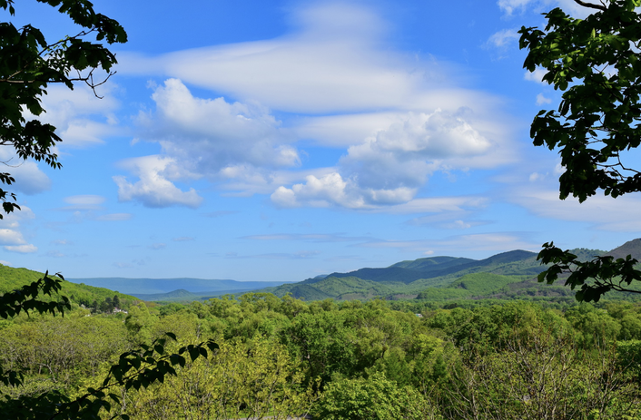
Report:
[[199,173],[216,174],[239,163],[297,166],[298,153],[283,142],[284,133],[259,103],[227,103],[223,98],[192,96],[177,79],[153,93],[157,112],[145,137]]

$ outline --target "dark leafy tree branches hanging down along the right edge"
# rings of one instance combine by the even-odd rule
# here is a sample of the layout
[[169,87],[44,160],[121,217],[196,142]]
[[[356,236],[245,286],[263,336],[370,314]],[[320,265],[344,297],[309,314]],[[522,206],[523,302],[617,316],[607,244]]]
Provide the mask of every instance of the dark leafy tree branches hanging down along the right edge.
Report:
[[[530,135],[561,156],[561,200],[572,195],[583,202],[597,191],[616,198],[641,190],[641,171],[631,163],[641,144],[641,1],[575,3],[594,13],[577,19],[556,8],[545,14],[543,31],[519,31],[520,47],[528,49],[524,67],[543,68],[543,80],[563,91],[557,110],[538,112]],[[629,287],[641,280],[630,256],[585,262],[550,242],[538,259],[551,264],[538,281],[567,277],[579,301],[598,301],[610,290],[641,292]]]

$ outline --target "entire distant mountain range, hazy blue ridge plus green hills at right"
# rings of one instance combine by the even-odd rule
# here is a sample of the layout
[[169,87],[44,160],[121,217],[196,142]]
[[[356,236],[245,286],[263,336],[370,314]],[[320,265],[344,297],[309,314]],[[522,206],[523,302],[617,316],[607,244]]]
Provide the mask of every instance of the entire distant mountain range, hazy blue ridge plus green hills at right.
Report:
[[[571,249],[578,259],[612,255],[632,255],[641,260],[641,239],[603,251]],[[111,288],[143,300],[205,300],[223,294],[248,291],[291,294],[306,300],[364,298],[518,298],[518,296],[571,296],[562,282],[550,287],[537,283],[536,276],[545,267],[537,254],[526,250],[503,252],[488,259],[429,257],[400,261],[380,269],[357,269],[349,273],[331,273],[307,278],[298,283],[205,280],[200,278],[68,278],[74,283]]]

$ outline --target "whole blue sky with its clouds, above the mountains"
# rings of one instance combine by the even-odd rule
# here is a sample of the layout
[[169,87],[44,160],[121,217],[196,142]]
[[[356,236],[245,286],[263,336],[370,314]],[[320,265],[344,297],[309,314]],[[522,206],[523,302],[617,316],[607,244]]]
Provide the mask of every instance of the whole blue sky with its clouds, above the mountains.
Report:
[[[557,5],[583,13],[570,0],[96,1],[130,42],[113,47],[104,99],[50,87],[42,119],[64,168],[11,170],[23,210],[0,222],[0,260],[69,278],[299,281],[634,239],[638,198],[558,200],[557,152],[529,139],[559,93],[522,68],[517,31]],[[76,31],[16,5],[27,22],[52,40]]]

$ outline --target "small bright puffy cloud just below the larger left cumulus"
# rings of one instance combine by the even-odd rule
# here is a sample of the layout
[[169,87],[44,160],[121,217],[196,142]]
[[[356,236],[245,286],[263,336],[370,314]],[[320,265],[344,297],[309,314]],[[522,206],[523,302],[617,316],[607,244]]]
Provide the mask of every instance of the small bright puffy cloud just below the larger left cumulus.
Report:
[[122,166],[137,175],[140,181],[131,183],[123,176],[114,176],[118,185],[118,200],[139,200],[146,207],[163,208],[174,205],[196,208],[201,205],[202,197],[196,190],[182,191],[168,177],[178,178],[181,169],[173,159],[160,156],[145,156],[123,161]]

